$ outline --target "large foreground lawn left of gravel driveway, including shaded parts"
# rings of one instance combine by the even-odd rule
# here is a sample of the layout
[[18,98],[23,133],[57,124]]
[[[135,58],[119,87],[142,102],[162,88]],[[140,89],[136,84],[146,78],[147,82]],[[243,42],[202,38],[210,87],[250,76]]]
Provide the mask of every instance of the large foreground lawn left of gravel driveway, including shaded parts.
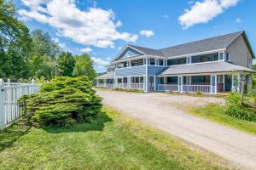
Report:
[[212,153],[104,108],[91,123],[0,133],[0,169],[227,169]]

